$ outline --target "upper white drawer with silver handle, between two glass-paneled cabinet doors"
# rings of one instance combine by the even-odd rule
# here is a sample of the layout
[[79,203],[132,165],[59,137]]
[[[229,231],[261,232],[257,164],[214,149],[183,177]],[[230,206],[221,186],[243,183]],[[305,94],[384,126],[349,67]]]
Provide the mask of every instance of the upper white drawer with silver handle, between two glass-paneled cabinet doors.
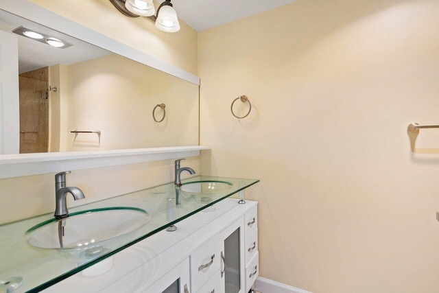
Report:
[[219,270],[221,261],[219,245],[219,236],[213,237],[191,254],[192,292],[198,292],[202,285]]

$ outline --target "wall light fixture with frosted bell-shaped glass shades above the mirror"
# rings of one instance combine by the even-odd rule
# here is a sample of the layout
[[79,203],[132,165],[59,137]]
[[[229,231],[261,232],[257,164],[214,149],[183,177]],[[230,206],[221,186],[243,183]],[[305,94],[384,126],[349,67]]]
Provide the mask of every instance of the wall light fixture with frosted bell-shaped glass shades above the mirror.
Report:
[[110,0],[110,2],[123,15],[147,17],[156,23],[158,30],[163,32],[178,32],[180,30],[177,12],[172,6],[171,0],[165,0],[158,6],[156,16],[152,0]]

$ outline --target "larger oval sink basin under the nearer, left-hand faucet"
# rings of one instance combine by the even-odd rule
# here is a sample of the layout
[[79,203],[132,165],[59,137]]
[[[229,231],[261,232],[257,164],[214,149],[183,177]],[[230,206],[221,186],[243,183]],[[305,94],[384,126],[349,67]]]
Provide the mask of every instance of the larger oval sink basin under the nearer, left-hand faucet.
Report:
[[[26,234],[29,235],[28,243],[34,247],[85,250],[102,247],[135,231],[148,219],[145,210],[134,207],[89,209],[71,213],[62,220],[53,218],[41,222],[29,228]],[[90,250],[91,253],[93,251]]]

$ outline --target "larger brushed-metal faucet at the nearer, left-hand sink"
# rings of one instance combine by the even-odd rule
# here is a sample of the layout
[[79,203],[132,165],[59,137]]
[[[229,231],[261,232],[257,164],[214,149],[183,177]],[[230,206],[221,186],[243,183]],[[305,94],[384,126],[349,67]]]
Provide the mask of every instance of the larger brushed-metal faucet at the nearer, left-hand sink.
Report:
[[84,193],[78,187],[66,187],[66,174],[70,173],[70,171],[67,171],[55,175],[56,209],[54,216],[57,219],[67,218],[69,216],[69,211],[67,210],[67,194],[71,194],[75,200],[85,198]]

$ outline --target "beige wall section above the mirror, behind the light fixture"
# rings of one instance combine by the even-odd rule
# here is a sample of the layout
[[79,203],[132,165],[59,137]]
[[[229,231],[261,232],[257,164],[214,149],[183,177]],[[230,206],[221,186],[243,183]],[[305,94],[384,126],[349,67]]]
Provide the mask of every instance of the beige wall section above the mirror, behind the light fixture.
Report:
[[197,75],[197,32],[183,21],[169,34],[149,19],[124,16],[108,0],[29,1]]

